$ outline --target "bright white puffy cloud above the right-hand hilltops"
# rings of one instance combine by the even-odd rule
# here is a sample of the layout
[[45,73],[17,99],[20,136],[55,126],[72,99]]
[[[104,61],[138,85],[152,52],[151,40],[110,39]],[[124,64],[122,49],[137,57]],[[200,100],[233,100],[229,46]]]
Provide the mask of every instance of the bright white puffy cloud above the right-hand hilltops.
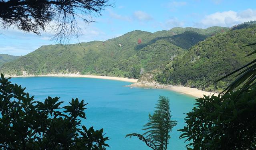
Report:
[[248,22],[250,20],[256,20],[256,10],[247,9],[241,12],[225,11],[216,12],[204,17],[200,22],[196,23],[196,26],[207,28],[210,26],[225,26],[232,27],[242,22]]

